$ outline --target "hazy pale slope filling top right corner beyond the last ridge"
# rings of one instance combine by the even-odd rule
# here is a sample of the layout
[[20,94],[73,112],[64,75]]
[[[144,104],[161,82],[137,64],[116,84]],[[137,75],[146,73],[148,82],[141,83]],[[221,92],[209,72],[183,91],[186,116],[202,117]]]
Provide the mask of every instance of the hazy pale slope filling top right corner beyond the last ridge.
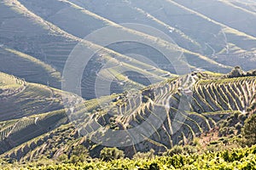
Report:
[[[216,20],[226,26],[245,32],[247,35],[256,37],[256,14],[248,11],[246,8],[238,8],[227,1],[202,1],[197,0],[189,2],[185,0],[176,0],[187,8],[191,8],[201,14],[206,15],[212,20]],[[217,10],[217,11],[216,11]]]

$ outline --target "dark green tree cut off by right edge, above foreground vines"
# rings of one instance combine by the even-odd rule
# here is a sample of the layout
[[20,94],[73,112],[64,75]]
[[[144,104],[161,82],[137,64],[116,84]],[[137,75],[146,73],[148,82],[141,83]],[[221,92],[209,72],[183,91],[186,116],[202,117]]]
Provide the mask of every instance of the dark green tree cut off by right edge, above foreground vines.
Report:
[[256,115],[249,116],[244,123],[243,133],[247,144],[256,144]]

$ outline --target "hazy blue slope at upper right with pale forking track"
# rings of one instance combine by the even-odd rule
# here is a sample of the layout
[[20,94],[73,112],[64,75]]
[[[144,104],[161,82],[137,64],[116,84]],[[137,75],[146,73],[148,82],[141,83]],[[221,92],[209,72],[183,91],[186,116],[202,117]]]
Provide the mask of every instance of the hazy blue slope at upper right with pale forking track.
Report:
[[[230,56],[234,55],[236,59],[239,59],[244,51],[246,53],[254,53],[255,51],[255,37],[243,31],[237,31],[225,25],[225,23],[213,20],[211,17],[200,14],[174,1],[161,0],[160,3],[146,1],[131,2],[139,8],[143,8],[149,14],[154,15],[157,19],[163,20],[166,24],[174,26],[192,39],[195,39],[203,47],[201,48],[201,54],[205,54],[214,60],[224,58],[225,60],[222,64],[233,65],[231,59],[229,59]],[[229,43],[243,50],[239,54],[231,54]],[[216,55],[224,48],[227,48],[229,51],[225,56]],[[243,64],[241,66],[246,68],[246,70],[252,70],[253,65],[255,65],[253,56],[248,55],[246,60],[248,61],[247,65]]]

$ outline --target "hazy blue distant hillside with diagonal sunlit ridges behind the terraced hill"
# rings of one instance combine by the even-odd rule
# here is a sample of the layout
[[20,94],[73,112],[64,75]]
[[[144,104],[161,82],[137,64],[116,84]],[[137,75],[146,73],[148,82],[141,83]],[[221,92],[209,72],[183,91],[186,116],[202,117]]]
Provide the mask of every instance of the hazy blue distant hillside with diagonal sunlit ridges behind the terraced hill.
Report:
[[[169,71],[172,74],[188,73],[177,71],[177,65],[173,65],[173,63],[166,64],[165,57],[173,60],[181,54],[186,64],[183,67],[188,67],[192,71],[207,70],[227,73],[231,69],[230,65],[241,65],[245,70],[251,70],[255,65],[253,58],[255,37],[250,31],[236,27],[239,24],[229,25],[226,20],[218,20],[218,16],[214,18],[212,13],[205,14],[203,11],[195,10],[193,5],[185,4],[182,1],[177,3],[162,1],[161,4],[164,4],[162,6],[140,1],[94,1],[92,3],[67,0],[42,2],[13,0],[12,3],[2,1],[2,4],[1,11],[3,11],[4,17],[1,19],[3,24],[1,25],[2,42],[0,43],[5,47],[39,59],[57,72],[62,72],[64,66],[67,65],[67,58],[70,57],[70,54],[75,54],[76,45],[79,44],[88,50],[91,47],[92,52],[96,52],[90,59],[90,66],[85,67],[82,79],[75,80],[82,82],[82,94],[85,99],[96,97],[94,91],[96,77],[99,77],[98,75],[105,77],[108,72],[113,75],[108,77],[110,79],[108,81],[114,79],[117,82],[111,85],[111,93],[122,93],[129,89],[127,87],[144,88],[145,85],[148,85],[147,77],[154,77],[153,82],[161,82],[166,77],[172,77],[168,73]],[[108,10],[104,10],[106,5]],[[224,5],[227,3],[218,5],[225,8]],[[228,7],[232,12],[231,9],[234,7],[230,5]],[[169,12],[166,13],[166,11]],[[172,11],[175,12],[172,13]],[[244,15],[254,16],[252,12],[247,12],[245,9],[241,11]],[[188,20],[183,17],[186,15],[189,16]],[[189,26],[189,21],[198,24]],[[15,27],[12,22],[23,24]],[[159,37],[157,31],[147,31],[139,26],[119,25],[124,22],[154,27],[170,38],[166,41],[165,37]],[[87,40],[83,40],[85,36],[89,36],[95,31],[101,31],[106,26],[110,26],[113,32],[134,37],[133,39],[136,40],[143,40],[148,44],[127,42],[124,39],[123,42],[107,44],[107,47],[103,48],[102,46],[106,46],[106,44],[98,42],[95,37],[87,37]],[[104,34],[104,36],[107,35]],[[113,34],[109,34],[106,39],[111,39],[111,37]],[[170,56],[161,56],[160,49],[163,48]],[[5,57],[9,55],[11,54],[4,54]],[[150,62],[145,63],[145,59],[140,59],[137,56],[144,56]],[[109,59],[113,59],[113,61],[109,61]],[[14,63],[16,62],[20,61]],[[114,66],[105,70],[102,65],[108,65],[109,62],[113,62]],[[152,63],[155,64],[153,67]],[[125,68],[120,70],[119,66],[124,66],[122,64],[125,65]],[[22,63],[22,65],[26,65],[26,63]],[[91,65],[96,66],[92,67]],[[15,65],[9,67],[14,68]],[[22,67],[26,68],[26,66]],[[25,78],[29,82],[61,88],[60,80],[49,80],[51,79],[50,75],[45,76],[46,80],[43,81],[38,80],[35,75],[30,77],[26,71],[23,75],[17,74],[15,70],[2,69],[2,71]],[[141,81],[138,81],[135,72],[143,73],[139,76]],[[123,82],[125,82],[125,86],[121,85]]]

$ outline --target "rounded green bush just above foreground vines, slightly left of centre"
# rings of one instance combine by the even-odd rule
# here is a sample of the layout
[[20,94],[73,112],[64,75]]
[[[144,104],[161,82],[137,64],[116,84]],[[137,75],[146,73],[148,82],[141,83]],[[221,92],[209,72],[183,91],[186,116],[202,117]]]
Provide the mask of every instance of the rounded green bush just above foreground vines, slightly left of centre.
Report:
[[112,161],[114,159],[120,159],[124,157],[124,151],[117,148],[103,148],[100,154],[100,158],[102,159],[102,161]]

